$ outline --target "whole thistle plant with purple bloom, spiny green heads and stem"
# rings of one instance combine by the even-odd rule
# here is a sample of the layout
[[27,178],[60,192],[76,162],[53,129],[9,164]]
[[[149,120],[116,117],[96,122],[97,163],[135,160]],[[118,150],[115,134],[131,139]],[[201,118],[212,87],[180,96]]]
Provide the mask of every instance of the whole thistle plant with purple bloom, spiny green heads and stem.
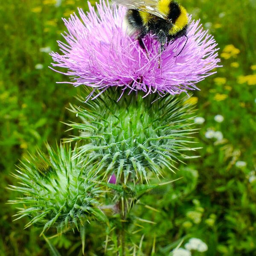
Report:
[[21,196],[10,203],[23,204],[18,218],[28,216],[26,227],[40,224],[42,233],[77,227],[84,234],[85,224],[103,222],[105,249],[97,253],[124,256],[133,250],[136,255],[143,239],[139,246],[134,242],[134,218],[153,222],[134,217],[132,209],[149,190],[171,186],[174,180],[166,173],[196,157],[188,153],[197,148],[187,91],[215,73],[218,49],[192,17],[185,46],[186,38],[178,38],[160,54],[154,35],[147,35],[143,49],[122,29],[125,8],[100,1],[95,10],[88,4],[87,14],[79,9],[80,18],[64,19],[62,53],[51,53],[52,69],[67,68],[56,71],[86,88],[79,105],[70,105],[78,121],[66,123],[79,135],[65,142],[77,146],[61,144],[56,151],[47,146],[47,154],[38,151],[24,160],[13,175],[20,185],[10,186]]

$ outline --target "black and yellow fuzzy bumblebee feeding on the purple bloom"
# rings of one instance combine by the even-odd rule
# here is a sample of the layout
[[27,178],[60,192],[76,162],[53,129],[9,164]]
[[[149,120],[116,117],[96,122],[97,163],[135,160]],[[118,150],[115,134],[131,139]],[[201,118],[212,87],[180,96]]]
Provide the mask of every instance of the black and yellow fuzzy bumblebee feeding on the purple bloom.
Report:
[[145,46],[142,39],[149,33],[155,35],[157,41],[161,44],[161,51],[166,43],[186,36],[188,27],[186,9],[173,0],[113,1],[128,8],[125,15],[127,32],[129,35],[137,36],[143,49],[145,49]]

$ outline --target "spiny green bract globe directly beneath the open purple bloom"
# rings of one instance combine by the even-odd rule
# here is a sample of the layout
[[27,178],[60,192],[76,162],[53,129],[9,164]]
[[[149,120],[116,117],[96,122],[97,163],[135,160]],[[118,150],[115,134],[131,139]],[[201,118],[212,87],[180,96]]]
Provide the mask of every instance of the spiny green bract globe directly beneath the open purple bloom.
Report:
[[[82,119],[71,123],[82,140],[79,154],[90,155],[95,175],[115,174],[124,181],[145,178],[148,171],[160,175],[164,166],[173,169],[190,143],[192,107],[185,103],[187,96],[143,99],[143,94],[128,95],[116,102],[118,90],[106,91],[84,107],[72,106],[71,111]],[[157,98],[159,97],[159,98]],[[155,101],[154,103],[152,103]]]

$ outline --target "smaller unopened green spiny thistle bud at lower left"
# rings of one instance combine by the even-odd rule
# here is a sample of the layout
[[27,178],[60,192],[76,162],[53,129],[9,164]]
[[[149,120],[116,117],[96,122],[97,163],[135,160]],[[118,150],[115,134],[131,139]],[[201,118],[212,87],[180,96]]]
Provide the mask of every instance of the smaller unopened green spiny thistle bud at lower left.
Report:
[[99,188],[89,180],[81,158],[73,160],[70,147],[60,146],[57,151],[47,146],[48,156],[38,151],[20,165],[17,178],[19,186],[9,189],[22,193],[11,204],[22,204],[17,219],[29,216],[32,224],[62,231],[67,227],[84,225],[94,217],[104,218],[97,208]]

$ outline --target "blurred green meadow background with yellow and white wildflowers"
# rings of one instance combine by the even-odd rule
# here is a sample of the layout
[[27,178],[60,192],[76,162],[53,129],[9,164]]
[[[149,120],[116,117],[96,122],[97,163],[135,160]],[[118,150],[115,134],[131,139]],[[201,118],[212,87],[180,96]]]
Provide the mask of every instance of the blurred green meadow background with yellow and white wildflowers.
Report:
[[[256,1],[180,2],[215,36],[224,67],[201,82],[201,91],[191,101],[205,119],[198,125],[201,158],[180,166],[177,176],[185,179],[165,188],[167,195],[166,190],[158,191],[144,199],[160,213],[137,209],[159,227],[145,227],[145,254],[149,255],[147,247],[151,248],[152,233],[156,233],[157,255],[168,255],[172,242],[183,236],[208,244],[205,254],[193,255],[256,255],[256,181],[252,181],[256,169]],[[23,230],[26,220],[12,222],[15,209],[6,201],[15,195],[5,187],[14,182],[10,173],[27,150],[33,152],[47,140],[53,144],[67,137],[61,121],[74,118],[65,108],[75,102],[73,96],[80,89],[55,84],[67,78],[49,70],[51,58],[41,48],[57,51],[56,40],[64,30],[61,17],[68,17],[77,7],[86,9],[87,3],[62,0],[58,7],[55,3],[0,0],[0,256],[49,255],[37,227]],[[223,122],[215,122],[217,114],[224,117]],[[208,129],[221,131],[223,140],[207,139]],[[246,166],[239,167],[237,161]],[[88,236],[87,250],[101,255],[101,242],[90,243],[93,239]],[[77,255],[81,247],[78,234],[52,241],[61,255]]]

